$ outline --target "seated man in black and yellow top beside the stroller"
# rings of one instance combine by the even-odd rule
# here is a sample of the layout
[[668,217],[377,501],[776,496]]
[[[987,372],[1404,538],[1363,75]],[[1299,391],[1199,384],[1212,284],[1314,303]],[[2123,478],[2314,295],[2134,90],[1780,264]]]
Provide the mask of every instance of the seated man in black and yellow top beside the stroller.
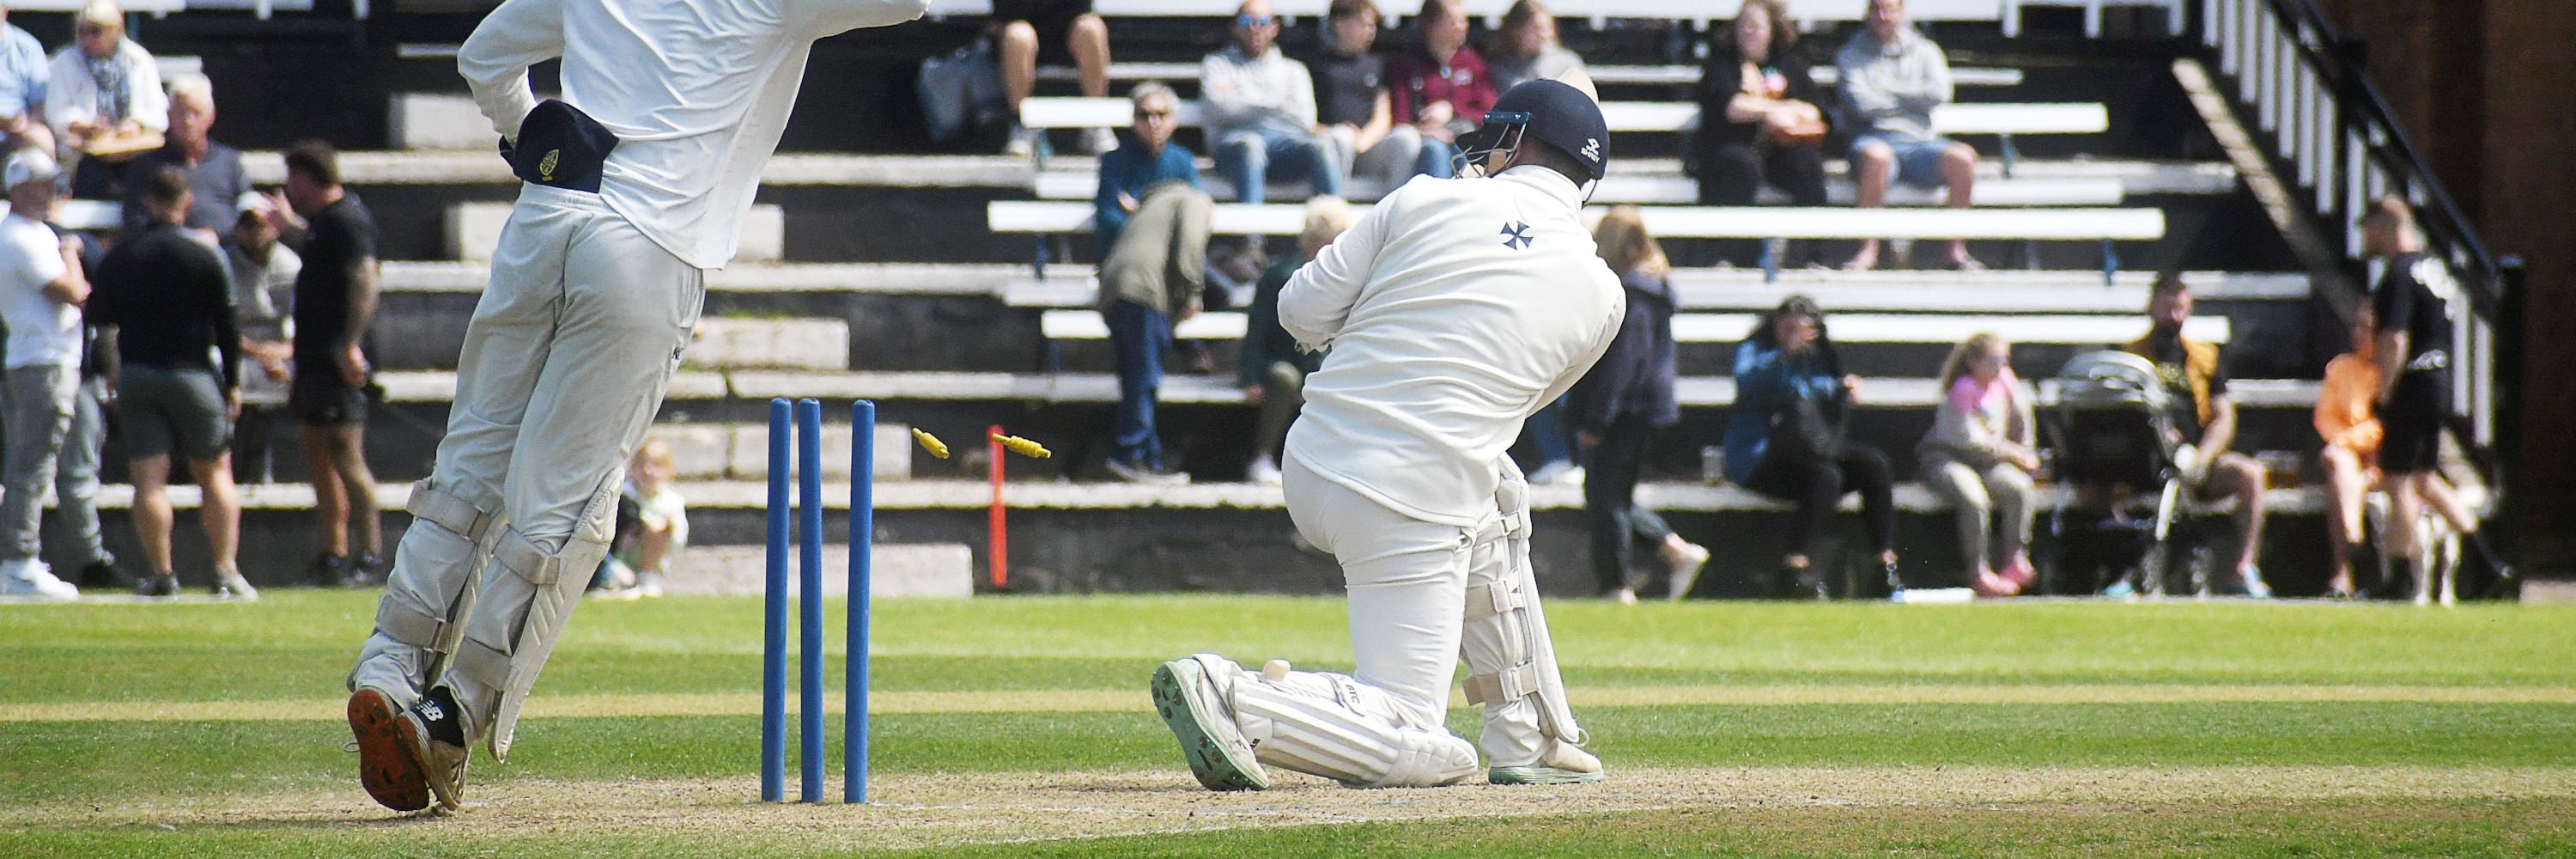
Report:
[[[2269,598],[2272,586],[2254,565],[2262,557],[2262,462],[2231,451],[2236,444],[2236,397],[2228,397],[2228,369],[2215,343],[2182,335],[2192,317],[2192,286],[2177,273],[2156,279],[2146,302],[2146,338],[2125,351],[2156,364],[2174,400],[2174,428],[2182,433],[2177,464],[2192,495],[2202,500],[2236,498],[2236,583],[2246,596]],[[2115,586],[2117,588],[2117,586]]]

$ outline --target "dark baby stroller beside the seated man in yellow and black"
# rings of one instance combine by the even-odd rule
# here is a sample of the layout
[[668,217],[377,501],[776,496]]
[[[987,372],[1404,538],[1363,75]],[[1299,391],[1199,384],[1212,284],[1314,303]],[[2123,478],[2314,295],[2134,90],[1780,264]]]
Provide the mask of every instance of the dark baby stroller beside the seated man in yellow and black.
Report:
[[[2053,578],[2107,596],[2164,596],[2172,573],[2192,568],[2177,549],[2190,516],[2182,508],[2182,436],[2174,431],[2172,395],[2156,364],[2125,351],[2092,351],[2066,361],[2056,382],[2056,408],[2043,426],[2056,446],[2058,482],[2079,488],[2074,526],[2069,506],[2050,513],[2063,549]],[[2089,493],[2084,493],[2089,490]],[[2148,495],[2151,493],[2151,495]],[[2154,513],[2146,513],[2154,498]],[[2081,503],[2107,508],[2081,508]],[[2123,570],[2107,586],[2102,570]],[[2202,583],[2192,575],[2192,588]]]

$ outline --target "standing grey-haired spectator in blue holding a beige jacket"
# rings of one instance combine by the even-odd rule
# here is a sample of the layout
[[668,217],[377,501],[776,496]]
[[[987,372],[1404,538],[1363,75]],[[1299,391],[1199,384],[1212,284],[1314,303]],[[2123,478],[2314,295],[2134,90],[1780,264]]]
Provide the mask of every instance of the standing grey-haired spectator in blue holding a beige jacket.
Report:
[[1188,482],[1162,467],[1154,433],[1154,397],[1162,390],[1162,353],[1172,348],[1172,322],[1198,315],[1208,279],[1208,217],[1213,204],[1198,188],[1198,163],[1172,144],[1172,106],[1162,83],[1141,83],[1128,95],[1136,139],[1100,157],[1095,230],[1108,253],[1100,261],[1100,317],[1118,356],[1118,449],[1108,467],[1136,482]]

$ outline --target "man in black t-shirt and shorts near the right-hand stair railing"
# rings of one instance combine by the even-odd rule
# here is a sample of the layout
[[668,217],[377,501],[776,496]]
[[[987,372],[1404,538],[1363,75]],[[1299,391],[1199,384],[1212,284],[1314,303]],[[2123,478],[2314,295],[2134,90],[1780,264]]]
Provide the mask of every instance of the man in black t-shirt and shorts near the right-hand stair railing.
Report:
[[2403,557],[2421,591],[2424,557],[2416,539],[2421,506],[2429,500],[2458,529],[2470,557],[2491,575],[2512,578],[2506,565],[2478,534],[2478,516],[2442,480],[2442,415],[2450,413],[2452,320],[2465,297],[2442,258],[2424,253],[2414,209],[2383,196],[2362,214],[2362,242],[2388,261],[2388,273],[2370,297],[2380,320],[2380,480],[2388,490],[2388,557]]

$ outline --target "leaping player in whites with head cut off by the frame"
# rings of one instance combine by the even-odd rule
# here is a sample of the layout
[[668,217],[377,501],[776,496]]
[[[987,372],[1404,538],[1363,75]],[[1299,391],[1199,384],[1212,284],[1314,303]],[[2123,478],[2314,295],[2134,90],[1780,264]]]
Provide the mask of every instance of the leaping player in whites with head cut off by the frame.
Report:
[[[358,776],[459,807],[608,555],[626,459],[778,147],[814,39],[925,0],[505,0],[456,57],[526,181],[376,632],[348,676]],[[564,101],[528,67],[562,57]]]

